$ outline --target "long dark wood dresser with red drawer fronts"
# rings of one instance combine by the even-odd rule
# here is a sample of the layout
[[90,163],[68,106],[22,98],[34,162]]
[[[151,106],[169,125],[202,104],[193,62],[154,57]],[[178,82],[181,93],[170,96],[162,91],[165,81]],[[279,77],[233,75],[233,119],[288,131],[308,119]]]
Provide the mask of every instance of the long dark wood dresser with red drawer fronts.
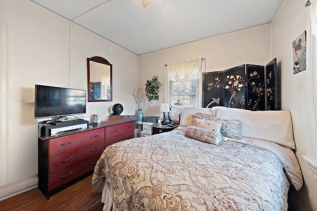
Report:
[[134,120],[101,122],[91,129],[39,137],[39,189],[50,196],[91,174],[107,146],[134,137]]

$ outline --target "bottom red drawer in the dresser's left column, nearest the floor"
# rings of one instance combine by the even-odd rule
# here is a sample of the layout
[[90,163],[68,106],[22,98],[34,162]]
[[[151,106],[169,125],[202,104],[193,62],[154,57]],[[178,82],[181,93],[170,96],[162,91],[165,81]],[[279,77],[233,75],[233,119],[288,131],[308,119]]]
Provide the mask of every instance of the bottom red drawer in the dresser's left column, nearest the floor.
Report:
[[72,165],[66,169],[61,169],[59,171],[49,174],[48,190],[51,191],[54,188],[57,188],[65,184],[66,182],[69,182],[75,179],[76,177],[93,170],[100,156],[101,154],[96,155],[85,161]]

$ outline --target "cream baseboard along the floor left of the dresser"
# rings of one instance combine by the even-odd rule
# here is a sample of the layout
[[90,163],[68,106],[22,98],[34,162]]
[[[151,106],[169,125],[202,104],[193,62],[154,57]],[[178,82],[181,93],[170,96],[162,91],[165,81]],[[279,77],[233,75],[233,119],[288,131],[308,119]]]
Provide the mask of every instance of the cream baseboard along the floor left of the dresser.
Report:
[[38,175],[32,175],[0,186],[0,201],[36,188],[39,184]]

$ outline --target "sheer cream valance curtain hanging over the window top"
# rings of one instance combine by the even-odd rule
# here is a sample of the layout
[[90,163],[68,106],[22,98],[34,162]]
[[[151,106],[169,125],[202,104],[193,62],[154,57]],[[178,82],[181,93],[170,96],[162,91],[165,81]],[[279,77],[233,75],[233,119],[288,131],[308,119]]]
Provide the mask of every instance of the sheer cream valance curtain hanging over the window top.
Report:
[[166,66],[167,77],[172,82],[194,80],[202,70],[202,58],[174,62]]

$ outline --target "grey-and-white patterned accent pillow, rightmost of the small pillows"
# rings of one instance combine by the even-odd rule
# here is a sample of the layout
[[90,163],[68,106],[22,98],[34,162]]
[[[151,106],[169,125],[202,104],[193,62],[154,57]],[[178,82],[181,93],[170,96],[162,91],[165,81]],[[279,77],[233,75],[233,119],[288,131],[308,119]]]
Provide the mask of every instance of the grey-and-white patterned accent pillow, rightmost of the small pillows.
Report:
[[215,119],[214,121],[222,122],[221,134],[229,138],[241,138],[243,133],[243,123],[240,120],[223,120]]

